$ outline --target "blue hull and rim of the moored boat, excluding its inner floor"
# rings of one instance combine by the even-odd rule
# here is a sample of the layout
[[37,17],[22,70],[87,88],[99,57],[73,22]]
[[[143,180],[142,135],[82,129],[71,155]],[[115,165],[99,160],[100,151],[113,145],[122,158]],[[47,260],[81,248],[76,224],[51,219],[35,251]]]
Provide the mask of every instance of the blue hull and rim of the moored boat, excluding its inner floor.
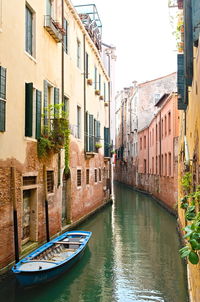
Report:
[[[76,245],[76,239],[76,241],[71,241],[74,239],[72,236],[75,236],[76,238],[77,234],[79,236],[82,234],[85,238],[82,239],[82,242],[78,243],[79,247],[75,250],[75,252],[72,253],[71,256],[66,257],[64,261],[54,263],[52,260],[37,260],[38,254],[41,254],[46,249],[57,244],[63,244],[64,242],[65,245]],[[49,243],[46,243],[44,246],[29,254],[26,258],[22,259],[12,268],[19,285],[21,287],[37,286],[52,281],[63,273],[67,272],[83,256],[90,237],[91,232],[66,232],[65,234],[53,239]]]

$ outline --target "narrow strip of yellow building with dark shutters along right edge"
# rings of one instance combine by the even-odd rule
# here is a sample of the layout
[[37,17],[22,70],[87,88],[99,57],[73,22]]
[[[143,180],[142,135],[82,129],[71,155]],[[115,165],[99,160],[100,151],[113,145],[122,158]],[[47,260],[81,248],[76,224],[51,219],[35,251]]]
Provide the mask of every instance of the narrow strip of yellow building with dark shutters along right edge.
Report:
[[[179,1],[183,14],[184,51],[178,54],[179,198],[178,221],[187,261],[190,301],[200,301],[199,184],[200,184],[200,57],[199,1]],[[185,257],[184,257],[185,256]]]

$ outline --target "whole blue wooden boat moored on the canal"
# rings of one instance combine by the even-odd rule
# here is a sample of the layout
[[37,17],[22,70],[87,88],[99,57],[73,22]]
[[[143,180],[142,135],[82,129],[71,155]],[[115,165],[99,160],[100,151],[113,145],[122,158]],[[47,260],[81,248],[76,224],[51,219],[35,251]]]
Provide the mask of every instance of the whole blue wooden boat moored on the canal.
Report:
[[32,287],[57,278],[83,255],[91,232],[70,231],[30,253],[12,268],[19,284]]

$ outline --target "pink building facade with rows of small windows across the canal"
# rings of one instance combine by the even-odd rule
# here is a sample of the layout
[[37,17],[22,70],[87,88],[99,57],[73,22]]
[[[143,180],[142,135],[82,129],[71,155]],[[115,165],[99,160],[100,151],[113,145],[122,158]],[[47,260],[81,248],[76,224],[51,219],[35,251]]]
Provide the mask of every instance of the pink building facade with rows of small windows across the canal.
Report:
[[174,208],[177,202],[179,115],[176,94],[165,94],[149,127],[138,132],[136,186]]

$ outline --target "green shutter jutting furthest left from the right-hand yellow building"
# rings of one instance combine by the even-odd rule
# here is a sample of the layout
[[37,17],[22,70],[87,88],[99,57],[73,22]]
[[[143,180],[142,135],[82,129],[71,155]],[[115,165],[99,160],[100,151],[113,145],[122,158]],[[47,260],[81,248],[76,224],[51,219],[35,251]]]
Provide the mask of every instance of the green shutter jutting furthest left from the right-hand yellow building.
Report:
[[178,71],[177,71],[177,89],[178,89],[178,109],[185,110],[187,105],[184,103],[185,96],[185,80],[184,80],[184,55],[177,55]]

